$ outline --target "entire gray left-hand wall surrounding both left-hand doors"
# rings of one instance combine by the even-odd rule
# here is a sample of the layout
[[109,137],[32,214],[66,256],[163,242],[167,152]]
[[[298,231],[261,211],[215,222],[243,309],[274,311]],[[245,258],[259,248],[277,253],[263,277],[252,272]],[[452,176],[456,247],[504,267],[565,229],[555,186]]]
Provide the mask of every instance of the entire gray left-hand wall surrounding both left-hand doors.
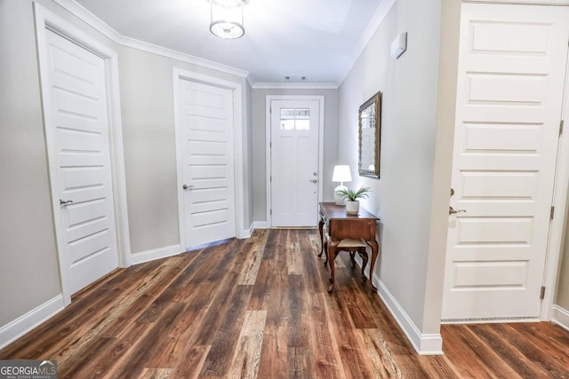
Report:
[[[51,0],[36,0],[118,53],[132,253],[178,244],[173,67],[228,75],[120,47]],[[60,295],[32,0],[0,0],[0,328]],[[252,223],[251,112],[243,112],[244,225]],[[0,343],[2,343],[0,341]]]

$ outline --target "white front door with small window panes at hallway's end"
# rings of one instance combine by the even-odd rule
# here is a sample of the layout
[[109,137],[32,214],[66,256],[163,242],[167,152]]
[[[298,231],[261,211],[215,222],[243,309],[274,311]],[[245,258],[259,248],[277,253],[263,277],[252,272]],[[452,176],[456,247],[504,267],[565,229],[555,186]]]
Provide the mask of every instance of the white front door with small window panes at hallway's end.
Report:
[[318,100],[271,101],[271,225],[316,226]]

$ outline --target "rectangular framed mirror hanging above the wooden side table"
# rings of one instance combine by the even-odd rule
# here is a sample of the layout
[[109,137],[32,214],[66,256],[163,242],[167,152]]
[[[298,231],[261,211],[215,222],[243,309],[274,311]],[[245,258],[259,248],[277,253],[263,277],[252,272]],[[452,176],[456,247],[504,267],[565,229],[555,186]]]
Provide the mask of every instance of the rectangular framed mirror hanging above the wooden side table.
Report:
[[381,91],[362,104],[358,114],[359,175],[380,178]]

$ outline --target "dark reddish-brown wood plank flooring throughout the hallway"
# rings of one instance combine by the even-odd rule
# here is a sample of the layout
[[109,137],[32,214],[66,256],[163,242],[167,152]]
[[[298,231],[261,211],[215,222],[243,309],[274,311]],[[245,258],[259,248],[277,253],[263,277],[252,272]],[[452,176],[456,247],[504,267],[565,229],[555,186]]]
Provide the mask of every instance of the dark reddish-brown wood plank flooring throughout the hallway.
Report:
[[60,378],[569,378],[569,332],[549,323],[444,326],[418,356],[349,254],[336,288],[314,230],[117,270],[0,351],[57,359]]

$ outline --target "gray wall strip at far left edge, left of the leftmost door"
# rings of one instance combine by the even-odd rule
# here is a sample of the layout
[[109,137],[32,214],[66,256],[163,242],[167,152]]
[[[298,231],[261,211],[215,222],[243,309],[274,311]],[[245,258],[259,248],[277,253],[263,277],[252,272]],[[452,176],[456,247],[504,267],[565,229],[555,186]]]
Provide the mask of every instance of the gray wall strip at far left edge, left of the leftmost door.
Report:
[[0,326],[60,294],[31,1],[0,1]]

